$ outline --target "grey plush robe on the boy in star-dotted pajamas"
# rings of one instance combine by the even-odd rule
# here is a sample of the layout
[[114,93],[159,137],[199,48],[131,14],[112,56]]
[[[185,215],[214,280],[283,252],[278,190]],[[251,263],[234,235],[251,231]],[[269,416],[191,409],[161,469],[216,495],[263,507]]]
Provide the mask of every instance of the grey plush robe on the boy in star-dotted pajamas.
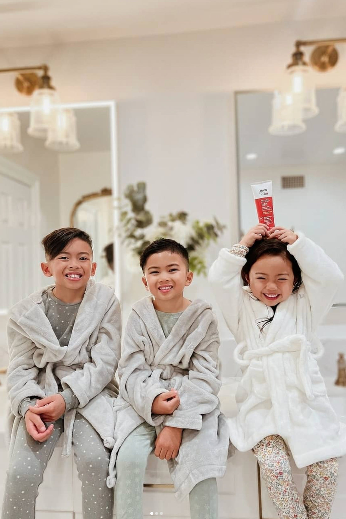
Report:
[[26,397],[44,398],[71,388],[77,409],[64,415],[64,448],[71,453],[76,411],[100,434],[104,445],[114,445],[113,400],[118,393],[114,374],[121,352],[121,313],[114,289],[89,280],[79,306],[68,346],[60,346],[45,315],[42,294],[54,285],[26,297],[10,310],[7,386],[10,398],[10,452],[20,421],[19,406]]

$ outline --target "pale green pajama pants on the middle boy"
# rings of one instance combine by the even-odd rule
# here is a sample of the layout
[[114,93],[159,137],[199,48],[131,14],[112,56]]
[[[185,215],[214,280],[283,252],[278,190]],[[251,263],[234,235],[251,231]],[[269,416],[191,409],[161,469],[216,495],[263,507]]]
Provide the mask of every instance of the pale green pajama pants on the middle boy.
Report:
[[[115,485],[117,519],[143,518],[144,475],[155,440],[155,427],[145,423],[129,434],[119,449]],[[218,519],[217,483],[214,477],[192,488],[189,498],[191,519]]]

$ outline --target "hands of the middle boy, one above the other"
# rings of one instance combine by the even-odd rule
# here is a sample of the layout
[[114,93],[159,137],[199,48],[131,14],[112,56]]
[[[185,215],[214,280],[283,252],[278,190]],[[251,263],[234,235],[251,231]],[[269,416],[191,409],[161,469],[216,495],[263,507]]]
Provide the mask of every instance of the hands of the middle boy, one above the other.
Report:
[[[151,405],[151,412],[155,415],[171,415],[180,404],[176,389],[157,395]],[[155,456],[160,459],[172,459],[178,455],[182,443],[183,429],[177,427],[163,427],[155,441]]]

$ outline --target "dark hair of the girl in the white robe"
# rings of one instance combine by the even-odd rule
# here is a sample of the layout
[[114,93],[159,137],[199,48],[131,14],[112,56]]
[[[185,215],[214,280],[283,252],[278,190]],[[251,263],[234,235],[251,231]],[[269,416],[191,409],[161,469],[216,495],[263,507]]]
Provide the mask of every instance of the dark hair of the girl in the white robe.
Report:
[[[241,276],[245,286],[248,285],[248,276],[250,274],[251,267],[254,265],[254,263],[256,263],[257,260],[259,260],[261,256],[283,256],[286,260],[288,260],[292,264],[292,270],[294,275],[292,293],[295,294],[296,292],[298,292],[299,286],[302,283],[301,270],[298,265],[298,262],[296,258],[288,252],[287,244],[283,243],[281,240],[276,238],[255,241],[252,247],[250,247],[248,253],[245,256],[246,263],[241,271]],[[272,317],[268,317],[268,319],[265,319],[264,321],[259,321],[257,323],[258,325],[261,324],[261,326],[259,326],[260,331],[262,331],[264,327],[273,320],[274,315],[275,308]]]

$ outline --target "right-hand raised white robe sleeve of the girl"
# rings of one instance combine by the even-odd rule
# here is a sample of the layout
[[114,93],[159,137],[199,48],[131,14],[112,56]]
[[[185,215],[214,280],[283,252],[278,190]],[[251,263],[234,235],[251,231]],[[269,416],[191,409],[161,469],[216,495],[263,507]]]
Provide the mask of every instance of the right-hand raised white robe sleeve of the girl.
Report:
[[301,269],[311,308],[312,329],[315,330],[333,305],[344,276],[323,249],[301,233],[298,240],[287,246],[287,250],[296,258]]

